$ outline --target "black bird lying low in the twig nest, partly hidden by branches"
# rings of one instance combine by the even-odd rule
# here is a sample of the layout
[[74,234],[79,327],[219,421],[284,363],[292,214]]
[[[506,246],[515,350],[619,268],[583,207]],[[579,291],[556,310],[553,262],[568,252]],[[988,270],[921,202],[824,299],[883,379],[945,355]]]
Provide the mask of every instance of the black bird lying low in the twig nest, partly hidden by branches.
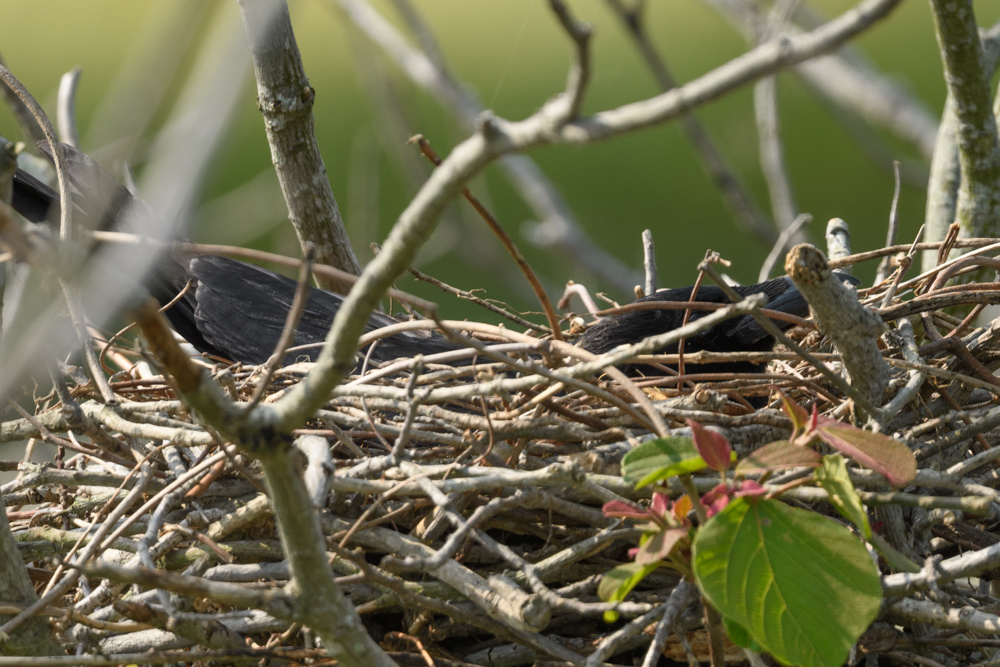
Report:
[[[44,150],[45,147],[42,148]],[[91,227],[130,231],[138,227],[138,216],[152,215],[127,188],[89,156],[69,146],[65,147],[65,156],[70,180],[78,190],[73,199],[75,214],[79,213]],[[34,222],[51,221],[59,215],[58,194],[20,170],[14,175],[12,203],[21,215]],[[95,210],[100,212],[96,221]],[[841,277],[854,281],[849,276]],[[188,286],[183,296],[166,311],[177,332],[201,352],[252,364],[263,363],[274,352],[297,287],[294,280],[254,264],[217,255],[176,254],[161,256],[146,284],[163,305],[173,301]],[[681,287],[660,291],[639,301],[687,301],[692,289]],[[805,299],[787,277],[735,289],[743,296],[767,295],[767,307],[772,310],[800,317],[809,313]],[[339,294],[311,289],[293,345],[322,343],[343,300]],[[699,288],[697,300],[729,302],[722,290],[714,286]],[[701,317],[705,312],[694,311],[692,319]],[[618,345],[635,343],[679,327],[683,313],[683,310],[642,310],[604,318],[584,334],[579,344],[590,352],[607,352]],[[368,320],[366,330],[374,331],[394,323],[395,319],[374,313]],[[791,326],[777,320],[775,323],[781,328]],[[774,338],[753,318],[742,316],[692,336],[687,339],[685,350],[766,351],[772,349],[774,342]],[[454,345],[439,334],[400,333],[383,338],[372,351],[372,357],[376,361],[388,361],[453,349],[456,349]],[[661,350],[665,354],[676,351],[676,345]],[[315,360],[318,354],[319,346],[316,345],[301,353],[290,354],[286,361],[302,357]],[[648,369],[633,365],[626,370],[636,374]],[[756,372],[762,370],[762,365],[711,364],[687,366],[686,370]]]

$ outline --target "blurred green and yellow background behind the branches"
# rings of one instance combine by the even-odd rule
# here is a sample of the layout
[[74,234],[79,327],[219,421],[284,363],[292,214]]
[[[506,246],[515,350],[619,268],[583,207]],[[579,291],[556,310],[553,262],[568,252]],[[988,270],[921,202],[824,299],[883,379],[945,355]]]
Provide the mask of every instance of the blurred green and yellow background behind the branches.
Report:
[[[607,5],[600,0],[569,4],[595,27],[594,78],[585,110],[656,94],[647,67]],[[853,4],[822,0],[811,7],[835,16]],[[374,5],[400,23],[391,2]],[[499,116],[523,118],[563,88],[572,49],[547,3],[421,0],[414,5],[432,27],[453,71]],[[385,99],[373,102],[370,91],[390,90],[405,132],[424,134],[442,155],[466,133],[435,99],[410,85],[366,42],[336,2],[296,0],[291,9],[306,72],[316,89],[320,147],[359,259],[365,262],[371,257],[369,243],[385,237],[414,187],[426,178],[425,168],[415,172],[405,166],[414,163],[414,149],[402,146],[397,136],[402,130],[387,130],[385,109],[380,108]],[[977,2],[976,9],[981,26],[1000,18],[1000,3],[995,0]],[[742,35],[699,0],[650,0],[647,10],[653,40],[680,81],[746,49]],[[50,114],[55,111],[59,77],[74,66],[82,67],[78,94],[82,148],[102,159],[124,155],[141,175],[151,138],[170,117],[173,100],[202,57],[204,41],[213,34],[211,26],[220,22],[241,25],[234,0],[2,0],[0,53]],[[939,113],[944,84],[926,0],[905,0],[855,44],[935,116]],[[164,61],[179,66],[163,76],[164,70],[171,70],[158,69]],[[139,72],[129,74],[129,66],[136,64]],[[297,255],[298,244],[271,174],[252,76],[247,70],[234,76],[245,79],[237,111],[227,122],[188,233],[196,240]],[[132,136],[133,128],[122,118],[128,118],[130,104],[148,102],[156,90],[164,91],[162,103],[156,105],[151,124],[141,128],[139,137]],[[807,232],[811,239],[822,243],[826,220],[836,216],[850,224],[856,251],[881,246],[893,189],[891,173],[855,145],[825,104],[794,74],[780,76],[779,101],[797,203],[814,217]],[[758,161],[752,89],[713,103],[697,116],[761,208],[769,211]],[[20,138],[6,109],[0,110],[0,134]],[[900,157],[919,157],[891,138],[886,141]],[[690,284],[709,248],[733,260],[729,273],[734,278],[754,281],[770,249],[734,224],[676,123],[585,148],[545,147],[531,157],[556,183],[593,239],[629,266],[641,267],[640,233],[652,229],[664,286]],[[120,164],[107,166],[120,168]],[[522,235],[532,213],[496,167],[477,179],[473,189],[515,237],[554,295],[567,279],[576,279],[586,281],[592,291],[629,298],[594,282],[572,258],[532,247]],[[923,220],[924,198],[921,187],[903,189],[900,239],[904,242],[912,239]],[[456,206],[449,212],[423,251],[419,268],[465,289],[486,288],[488,296],[515,308],[536,310],[513,262],[495,239],[481,232],[482,225],[467,209]],[[869,267],[861,276],[870,279],[873,272]],[[401,279],[399,286],[438,301],[448,316],[494,319],[434,288],[414,285],[409,278]]]

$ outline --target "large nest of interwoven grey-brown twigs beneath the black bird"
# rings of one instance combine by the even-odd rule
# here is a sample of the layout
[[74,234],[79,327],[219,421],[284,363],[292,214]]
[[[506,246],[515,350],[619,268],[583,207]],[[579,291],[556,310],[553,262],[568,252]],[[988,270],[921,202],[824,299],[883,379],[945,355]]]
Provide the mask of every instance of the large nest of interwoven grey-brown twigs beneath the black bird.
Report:
[[[976,260],[952,266],[978,268]],[[979,633],[1000,623],[1000,598],[991,586],[1000,561],[994,563],[990,549],[1000,533],[995,509],[975,515],[982,504],[964,503],[987,496],[996,507],[1000,479],[990,453],[1000,437],[1000,387],[989,369],[996,365],[1000,325],[974,329],[971,323],[982,306],[1000,302],[1000,284],[941,287],[936,277],[890,277],[861,293],[890,327],[906,319],[916,325],[909,341],[904,336],[882,345],[892,374],[880,405],[892,407],[878,421],[916,453],[919,472],[912,487],[899,491],[888,491],[870,471],[855,470],[854,481],[897,549],[919,561],[951,560],[905,581],[887,577],[893,597],[860,648],[901,662],[911,653],[976,662],[997,646]],[[965,310],[956,315],[955,307]],[[644,405],[634,387],[615,378],[592,374],[569,382],[560,375],[565,362],[546,353],[539,339],[525,342],[510,329],[485,324],[469,330],[519,344],[505,354],[520,361],[370,364],[297,433],[318,439],[300,439],[290,450],[319,513],[333,571],[367,631],[403,665],[570,664],[588,655],[593,660],[595,652],[598,663],[640,661],[666,618],[678,577],[669,570],[648,577],[614,605],[621,617],[613,624],[602,618],[611,605],[596,589],[604,573],[629,561],[637,543],[639,532],[601,507],[649,497],[649,489],[620,477],[618,465],[650,437],[655,420],[649,410],[671,428],[686,419],[711,425],[741,452],[787,437],[790,422],[778,402],[751,411],[736,394],[768,395],[779,386],[821,414],[851,418],[841,388],[781,346],[731,357],[767,358],[763,377],[694,386],[636,380],[647,385]],[[821,333],[800,327],[790,335],[839,370],[839,356]],[[677,363],[674,357],[646,361]],[[548,376],[538,371],[546,365]],[[277,372],[261,400],[298,383],[305,370],[295,365]],[[221,364],[213,373],[246,402],[260,377],[257,368]],[[85,568],[85,578],[41,612],[64,645],[109,660],[158,664],[325,656],[308,628],[254,604],[291,574],[259,464],[192,419],[172,378],[119,375],[111,387],[116,406],[95,398],[89,384],[79,385],[41,401],[34,415],[0,425],[3,441],[35,438],[59,448],[52,464],[2,462],[18,471],[3,486],[3,500],[38,591],[62,580],[69,570],[61,563],[73,562],[98,536],[100,546],[90,555],[102,564]],[[894,403],[904,391],[906,400]],[[695,482],[715,484],[717,477],[709,477]],[[835,515],[823,502],[812,506]],[[969,552],[980,558],[975,565]],[[168,573],[187,577],[171,580]],[[891,573],[888,566],[883,573]],[[231,588],[220,594],[215,587],[223,584],[247,591],[246,602]],[[934,595],[925,592],[928,586]],[[667,660],[707,659],[695,597],[669,616]],[[931,606],[918,613],[904,604],[914,601]],[[950,613],[958,608],[971,611]],[[729,649],[727,659],[746,659]]]

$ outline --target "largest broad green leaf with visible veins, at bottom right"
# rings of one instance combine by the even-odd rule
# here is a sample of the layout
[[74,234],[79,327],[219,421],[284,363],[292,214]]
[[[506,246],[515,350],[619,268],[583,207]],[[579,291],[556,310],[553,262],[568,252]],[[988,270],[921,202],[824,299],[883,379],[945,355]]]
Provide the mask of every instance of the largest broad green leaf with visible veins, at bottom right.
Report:
[[842,665],[882,605],[861,540],[777,500],[729,503],[698,531],[692,564],[719,613],[790,665]]

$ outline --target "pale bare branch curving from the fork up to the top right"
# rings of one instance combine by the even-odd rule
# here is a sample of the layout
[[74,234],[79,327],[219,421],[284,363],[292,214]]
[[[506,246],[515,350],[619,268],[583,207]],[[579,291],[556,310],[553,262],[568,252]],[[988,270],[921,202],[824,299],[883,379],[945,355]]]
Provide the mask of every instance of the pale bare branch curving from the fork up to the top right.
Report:
[[[500,155],[546,143],[589,143],[672,120],[781,67],[836,48],[885,17],[899,2],[863,0],[811,33],[759,46],[681,88],[562,126],[552,126],[548,105],[516,123],[484,116],[479,132],[455,147],[403,211],[383,251],[365,268],[334,318],[313,372],[274,404],[274,414],[260,413],[258,418],[266,420],[269,426],[274,425],[270,420],[277,419],[283,428],[295,428],[320,406],[323,398],[353,368],[353,343],[361,336],[368,315],[392,281],[412,263],[444,206],[461,192],[468,179]],[[763,316],[761,319],[767,321]]]

